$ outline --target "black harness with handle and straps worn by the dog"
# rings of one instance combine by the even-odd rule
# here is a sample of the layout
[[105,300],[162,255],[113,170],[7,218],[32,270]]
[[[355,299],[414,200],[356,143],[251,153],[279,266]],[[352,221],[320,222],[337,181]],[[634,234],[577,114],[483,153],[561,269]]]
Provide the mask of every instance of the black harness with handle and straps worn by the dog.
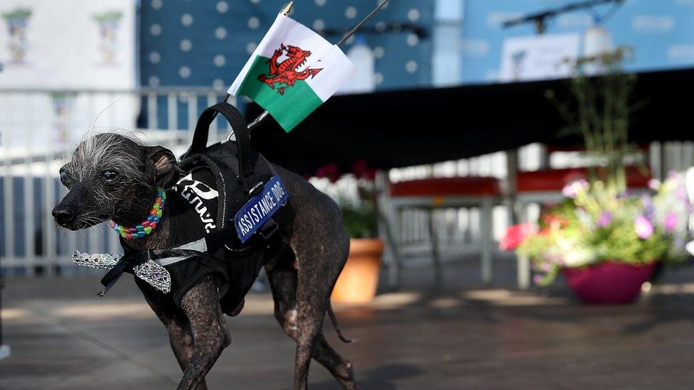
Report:
[[[206,146],[209,127],[216,113],[227,119],[235,133],[236,142]],[[189,258],[177,263],[176,266],[165,265],[174,280],[171,294],[176,305],[180,306],[181,298],[200,278],[214,273],[222,279],[220,303],[223,311],[229,313],[242,303],[260,268],[269,256],[277,252],[281,244],[277,234],[278,225],[272,217],[267,219],[267,222],[262,224],[246,242],[241,242],[239,239],[234,223],[236,213],[252,197],[258,195],[265,183],[277,173],[260,153],[250,147],[249,131],[241,113],[224,102],[215,104],[202,112],[191,147],[181,157],[179,166],[186,173],[201,167],[207,168],[214,174],[217,182],[219,199],[216,228],[196,242],[197,247],[205,249],[176,247],[136,251],[124,245],[121,239],[125,254],[102,278],[101,283],[105,288],[99,295],[104,296],[122,273],[133,273],[134,266],[150,260]],[[183,245],[183,247],[191,247],[191,245]],[[185,277],[181,276],[181,280],[185,281],[178,285],[175,282],[177,273],[186,274]]]

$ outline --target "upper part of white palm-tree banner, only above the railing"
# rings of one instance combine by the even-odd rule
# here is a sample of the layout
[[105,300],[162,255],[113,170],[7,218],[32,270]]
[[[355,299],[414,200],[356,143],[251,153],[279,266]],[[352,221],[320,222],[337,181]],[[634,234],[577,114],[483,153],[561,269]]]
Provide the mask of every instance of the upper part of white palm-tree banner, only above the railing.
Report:
[[129,89],[134,0],[3,0],[0,87]]

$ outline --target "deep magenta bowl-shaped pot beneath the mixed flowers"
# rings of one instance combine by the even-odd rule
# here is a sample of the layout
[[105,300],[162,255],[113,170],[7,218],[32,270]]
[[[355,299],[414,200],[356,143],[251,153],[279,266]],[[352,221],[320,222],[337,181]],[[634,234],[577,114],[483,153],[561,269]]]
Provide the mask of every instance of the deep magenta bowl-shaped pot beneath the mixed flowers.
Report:
[[582,269],[562,269],[566,283],[584,303],[630,303],[641,292],[641,285],[653,276],[656,261],[633,266],[604,262]]

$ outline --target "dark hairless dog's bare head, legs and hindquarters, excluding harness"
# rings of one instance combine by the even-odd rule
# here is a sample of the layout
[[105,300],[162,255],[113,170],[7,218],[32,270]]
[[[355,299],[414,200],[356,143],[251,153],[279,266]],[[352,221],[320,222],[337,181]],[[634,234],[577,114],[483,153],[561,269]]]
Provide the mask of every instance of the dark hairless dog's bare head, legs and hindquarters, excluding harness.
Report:
[[[336,204],[299,175],[273,166],[291,195],[275,219],[282,247],[265,263],[274,299],[274,316],[297,343],[294,388],[306,389],[311,358],[323,364],[345,389],[356,389],[352,364],[326,342],[322,325],[330,310],[330,293],[349,250],[349,238]],[[82,141],[60,168],[69,191],[53,209],[60,226],[86,229],[112,220],[134,226],[149,212],[156,188],[178,178],[173,153],[143,146],[119,134],[97,134]],[[174,181],[175,183],[175,181]],[[137,241],[122,241],[137,251],[164,249],[172,218],[166,207],[156,230]],[[205,374],[231,342],[220,308],[220,281],[207,276],[173,303],[171,294],[137,280],[137,286],[169,331],[173,354],[183,370],[178,389],[206,389]],[[236,308],[235,315],[241,309]],[[333,323],[336,322],[333,320]],[[338,330],[339,332],[339,330]]]

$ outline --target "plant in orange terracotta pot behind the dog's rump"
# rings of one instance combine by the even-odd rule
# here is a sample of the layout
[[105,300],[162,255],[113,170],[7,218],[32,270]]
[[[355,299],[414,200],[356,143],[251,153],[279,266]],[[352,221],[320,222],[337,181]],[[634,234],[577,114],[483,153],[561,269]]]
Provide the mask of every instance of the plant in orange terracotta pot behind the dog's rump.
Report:
[[378,288],[383,240],[378,238],[375,171],[358,161],[351,173],[339,175],[334,164],[318,170],[311,183],[330,195],[342,211],[350,236],[347,263],[331,298],[341,303],[368,303]]

